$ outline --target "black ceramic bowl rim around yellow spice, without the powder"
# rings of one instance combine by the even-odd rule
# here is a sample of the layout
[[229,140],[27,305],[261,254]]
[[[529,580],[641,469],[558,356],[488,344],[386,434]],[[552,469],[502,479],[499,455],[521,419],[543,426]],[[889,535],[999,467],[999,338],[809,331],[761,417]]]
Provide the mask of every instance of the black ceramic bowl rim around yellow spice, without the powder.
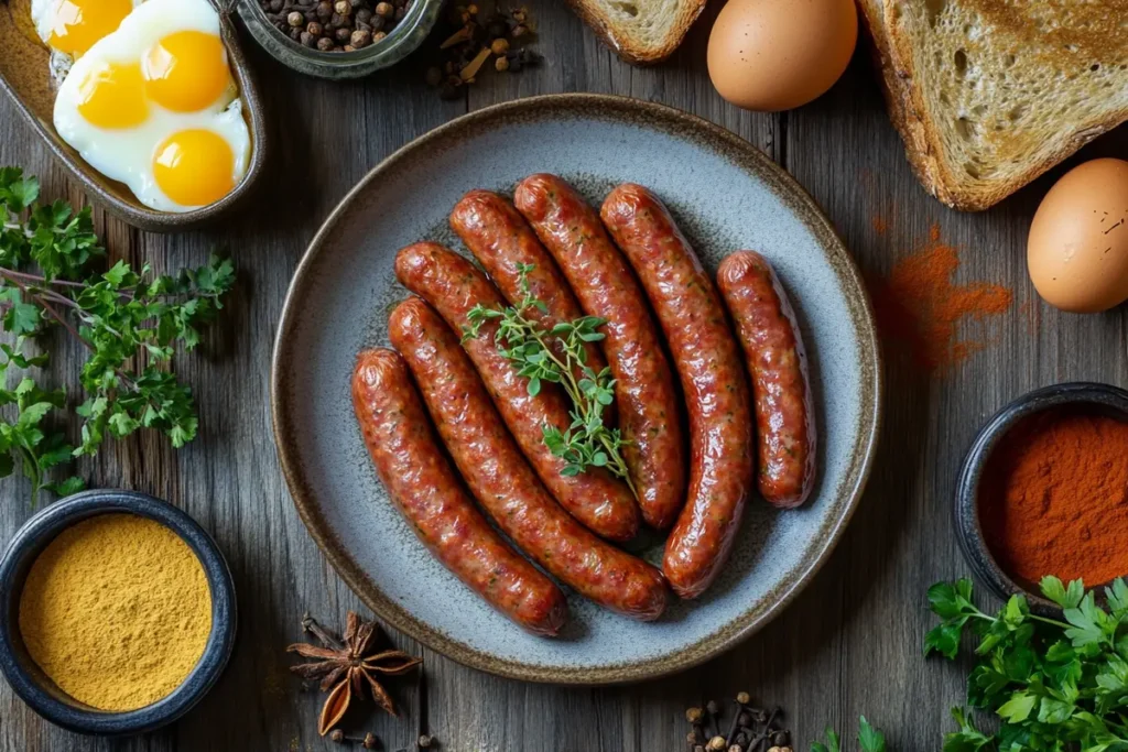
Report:
[[[200,559],[212,600],[212,631],[204,653],[171,695],[126,713],[97,710],[67,696],[32,661],[19,634],[19,596],[39,552],[65,528],[107,513],[155,520],[179,536]],[[0,559],[0,671],[33,710],[83,734],[140,734],[187,713],[212,688],[235,645],[235,583],[223,555],[203,528],[175,506],[127,490],[88,490],[39,511],[20,528]]]

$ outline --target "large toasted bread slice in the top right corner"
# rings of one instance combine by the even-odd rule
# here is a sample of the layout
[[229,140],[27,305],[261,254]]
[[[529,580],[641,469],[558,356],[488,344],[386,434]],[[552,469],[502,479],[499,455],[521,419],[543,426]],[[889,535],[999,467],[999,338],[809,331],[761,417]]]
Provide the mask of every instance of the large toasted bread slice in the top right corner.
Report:
[[893,125],[950,206],[1003,200],[1128,121],[1128,0],[858,0]]

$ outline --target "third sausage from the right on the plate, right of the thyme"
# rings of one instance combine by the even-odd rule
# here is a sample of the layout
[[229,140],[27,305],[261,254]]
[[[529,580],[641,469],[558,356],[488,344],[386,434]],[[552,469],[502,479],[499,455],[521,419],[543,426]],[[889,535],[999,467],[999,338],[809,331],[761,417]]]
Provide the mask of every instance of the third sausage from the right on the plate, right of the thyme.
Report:
[[606,319],[603,352],[615,378],[619,428],[646,523],[666,530],[686,501],[678,396],[646,298],[603,224],[572,186],[532,175],[513,203],[559,265],[589,316]]

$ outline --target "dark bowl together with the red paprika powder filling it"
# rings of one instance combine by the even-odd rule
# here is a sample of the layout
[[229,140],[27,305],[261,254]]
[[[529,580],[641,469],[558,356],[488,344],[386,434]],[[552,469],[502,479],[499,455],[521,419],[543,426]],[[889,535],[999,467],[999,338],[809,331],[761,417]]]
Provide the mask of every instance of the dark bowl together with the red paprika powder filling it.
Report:
[[1064,383],[1011,402],[980,430],[957,486],[960,545],[998,596],[1054,575],[1089,587],[1128,575],[1128,391]]

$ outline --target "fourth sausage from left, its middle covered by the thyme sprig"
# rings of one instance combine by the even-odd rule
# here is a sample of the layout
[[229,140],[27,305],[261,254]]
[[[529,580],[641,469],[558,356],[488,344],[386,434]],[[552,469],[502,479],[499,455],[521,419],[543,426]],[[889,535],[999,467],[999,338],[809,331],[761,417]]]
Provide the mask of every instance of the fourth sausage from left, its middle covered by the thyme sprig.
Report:
[[[534,309],[528,315],[546,329],[583,316],[552,257],[545,253],[513,204],[503,196],[488,191],[470,191],[455,204],[450,227],[482,263],[511,306],[517,306],[525,298],[520,267],[532,267],[526,272],[529,293],[545,304],[545,310]],[[607,362],[599,346],[588,343],[584,352],[591,370],[596,373],[602,371]],[[558,348],[556,354],[563,356],[563,348]],[[576,375],[578,379],[582,375],[579,369]]]

